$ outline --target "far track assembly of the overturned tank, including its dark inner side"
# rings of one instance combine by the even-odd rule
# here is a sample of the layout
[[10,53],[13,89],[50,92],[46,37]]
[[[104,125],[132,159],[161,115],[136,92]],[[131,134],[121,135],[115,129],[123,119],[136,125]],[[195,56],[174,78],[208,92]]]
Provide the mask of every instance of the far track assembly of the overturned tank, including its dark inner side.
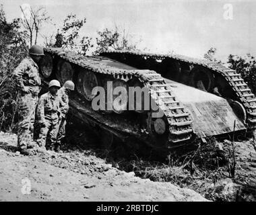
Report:
[[[114,51],[100,54],[139,69],[154,69],[167,79],[178,81],[214,93],[230,101],[234,112],[247,114],[247,126],[256,126],[256,97],[236,71],[218,62],[199,60],[181,55],[149,54],[142,52]],[[234,101],[241,105],[234,105]],[[236,110],[236,109],[239,110]]]

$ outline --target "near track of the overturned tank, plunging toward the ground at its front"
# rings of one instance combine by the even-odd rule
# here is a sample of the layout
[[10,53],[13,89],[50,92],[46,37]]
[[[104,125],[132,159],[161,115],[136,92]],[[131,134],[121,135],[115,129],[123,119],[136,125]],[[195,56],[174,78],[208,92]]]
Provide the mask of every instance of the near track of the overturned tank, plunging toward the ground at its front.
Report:
[[[48,52],[53,56],[59,56],[67,62],[78,65],[84,69],[93,71],[94,73],[100,73],[104,75],[110,75],[115,79],[123,78],[137,78],[141,83],[148,87],[152,99],[160,107],[160,110],[164,112],[164,116],[168,122],[169,134],[168,142],[177,143],[184,142],[191,139],[193,135],[192,118],[187,108],[181,104],[175,97],[171,90],[170,85],[166,83],[164,78],[155,71],[150,70],[125,70],[117,69],[114,67],[106,67],[100,63],[101,60],[106,59],[102,56],[82,56],[69,50],[63,50],[61,48],[44,48],[44,52]],[[112,60],[107,58],[108,60]],[[115,61],[115,60],[113,60]]]

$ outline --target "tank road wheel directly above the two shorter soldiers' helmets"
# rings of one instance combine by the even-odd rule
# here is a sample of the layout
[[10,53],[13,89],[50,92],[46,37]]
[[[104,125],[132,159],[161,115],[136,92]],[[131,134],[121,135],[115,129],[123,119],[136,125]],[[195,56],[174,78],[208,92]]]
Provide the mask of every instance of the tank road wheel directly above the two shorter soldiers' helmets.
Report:
[[71,64],[65,60],[59,60],[57,64],[57,73],[56,77],[61,82],[61,85],[65,83],[65,81],[73,80],[73,68]]

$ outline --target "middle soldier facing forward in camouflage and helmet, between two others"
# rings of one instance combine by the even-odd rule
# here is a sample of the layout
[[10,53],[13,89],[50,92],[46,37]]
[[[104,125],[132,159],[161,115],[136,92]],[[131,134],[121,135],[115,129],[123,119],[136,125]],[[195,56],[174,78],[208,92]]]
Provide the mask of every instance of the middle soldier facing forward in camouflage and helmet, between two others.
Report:
[[60,117],[60,99],[57,91],[61,88],[59,81],[52,80],[49,83],[49,92],[41,95],[38,101],[37,114],[40,124],[40,134],[37,140],[40,150],[46,150],[46,138],[49,137],[49,148],[53,150],[57,138]]

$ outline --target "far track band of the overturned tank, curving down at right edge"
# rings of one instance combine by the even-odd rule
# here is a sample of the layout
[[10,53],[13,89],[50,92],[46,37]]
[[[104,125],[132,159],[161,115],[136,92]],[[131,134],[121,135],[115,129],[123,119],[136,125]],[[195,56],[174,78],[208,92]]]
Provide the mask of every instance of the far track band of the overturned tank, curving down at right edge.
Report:
[[164,60],[165,58],[171,58],[174,60],[179,60],[181,62],[187,62],[193,65],[199,65],[202,67],[206,67],[210,69],[210,71],[216,71],[232,87],[238,100],[243,104],[245,110],[247,112],[247,122],[249,123],[249,127],[255,128],[256,127],[256,97],[252,93],[251,89],[249,89],[247,83],[242,79],[239,73],[236,73],[233,69],[229,69],[225,67],[224,64],[218,62],[212,62],[210,60],[200,60],[196,58],[191,58],[179,54],[150,54],[150,53],[143,53],[143,52],[131,52],[131,51],[122,51],[122,50],[115,50],[115,51],[107,51],[102,52],[101,54],[107,56],[108,54],[132,54],[136,56],[141,56],[143,58],[154,58],[155,60]]

